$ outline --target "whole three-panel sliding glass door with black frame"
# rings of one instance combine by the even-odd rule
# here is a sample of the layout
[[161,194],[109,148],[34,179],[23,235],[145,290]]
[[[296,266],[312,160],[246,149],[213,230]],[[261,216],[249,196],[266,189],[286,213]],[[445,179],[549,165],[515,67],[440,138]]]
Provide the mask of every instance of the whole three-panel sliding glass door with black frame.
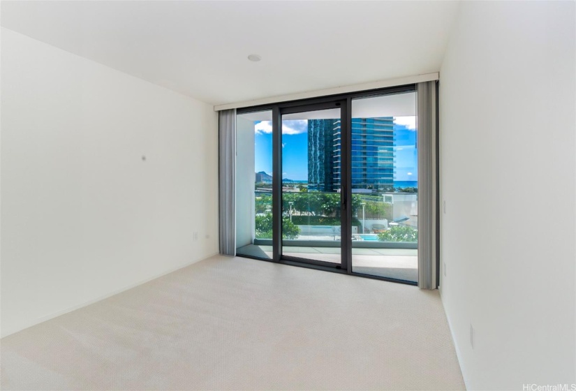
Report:
[[237,116],[237,254],[418,281],[415,86]]

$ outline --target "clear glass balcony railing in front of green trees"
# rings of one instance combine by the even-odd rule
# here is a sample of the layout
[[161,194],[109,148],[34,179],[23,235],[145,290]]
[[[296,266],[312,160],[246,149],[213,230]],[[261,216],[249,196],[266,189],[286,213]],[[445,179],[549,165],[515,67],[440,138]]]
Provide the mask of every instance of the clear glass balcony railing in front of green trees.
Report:
[[[283,191],[283,239],[340,241],[340,193],[301,187]],[[256,191],[254,205],[254,237],[272,239],[272,194]],[[353,240],[417,244],[418,193],[353,194],[350,207]]]

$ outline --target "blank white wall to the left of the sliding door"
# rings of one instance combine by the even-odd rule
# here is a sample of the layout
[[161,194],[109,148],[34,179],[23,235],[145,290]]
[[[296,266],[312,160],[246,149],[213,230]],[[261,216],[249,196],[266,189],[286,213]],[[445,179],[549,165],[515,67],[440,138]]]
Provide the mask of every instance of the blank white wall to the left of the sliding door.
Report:
[[212,106],[2,29],[1,109],[2,335],[217,252]]

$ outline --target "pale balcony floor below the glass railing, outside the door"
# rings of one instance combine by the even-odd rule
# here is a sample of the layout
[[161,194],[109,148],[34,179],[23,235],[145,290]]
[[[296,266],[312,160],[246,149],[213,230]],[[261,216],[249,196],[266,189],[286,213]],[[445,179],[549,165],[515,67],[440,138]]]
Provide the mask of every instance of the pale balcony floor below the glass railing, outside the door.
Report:
[[[238,255],[272,258],[272,246],[249,244],[236,249]],[[283,255],[340,263],[338,247],[283,246]],[[353,272],[390,279],[418,281],[418,250],[352,249]]]

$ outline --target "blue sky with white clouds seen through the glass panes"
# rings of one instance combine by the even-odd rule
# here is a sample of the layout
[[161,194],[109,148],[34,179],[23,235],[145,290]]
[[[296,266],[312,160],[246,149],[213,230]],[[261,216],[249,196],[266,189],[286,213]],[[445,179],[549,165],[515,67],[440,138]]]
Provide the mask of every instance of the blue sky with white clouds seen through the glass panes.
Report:
[[[256,121],[255,169],[272,174],[272,123]],[[418,178],[418,158],[415,152],[414,117],[394,120],[396,149],[396,180],[415,181]],[[282,177],[293,180],[308,179],[308,124],[307,120],[283,121]]]

